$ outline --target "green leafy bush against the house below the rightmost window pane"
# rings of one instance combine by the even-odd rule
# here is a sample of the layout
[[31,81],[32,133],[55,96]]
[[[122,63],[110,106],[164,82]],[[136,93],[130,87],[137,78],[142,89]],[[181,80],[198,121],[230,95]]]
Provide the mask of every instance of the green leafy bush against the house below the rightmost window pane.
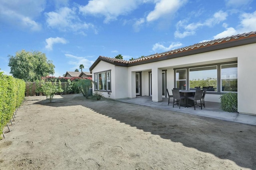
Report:
[[220,96],[220,108],[223,111],[236,112],[237,111],[237,94],[225,93]]

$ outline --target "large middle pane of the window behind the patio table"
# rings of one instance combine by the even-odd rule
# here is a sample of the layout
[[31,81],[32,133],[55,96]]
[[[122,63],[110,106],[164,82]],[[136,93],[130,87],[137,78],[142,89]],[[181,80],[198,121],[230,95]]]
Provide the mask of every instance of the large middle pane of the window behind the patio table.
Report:
[[189,68],[189,88],[208,87],[207,91],[217,92],[217,66]]

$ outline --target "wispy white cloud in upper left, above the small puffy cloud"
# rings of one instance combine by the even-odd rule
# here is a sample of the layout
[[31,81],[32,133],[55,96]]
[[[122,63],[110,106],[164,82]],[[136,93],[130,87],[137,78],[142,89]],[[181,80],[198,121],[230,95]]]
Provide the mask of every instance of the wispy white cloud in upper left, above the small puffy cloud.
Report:
[[[60,31],[77,31],[78,33],[85,35],[83,30],[92,28],[94,25],[91,23],[83,22],[76,14],[76,8],[60,8],[56,12],[46,13],[46,23],[48,27],[59,29]],[[97,31],[94,30],[97,34]]]

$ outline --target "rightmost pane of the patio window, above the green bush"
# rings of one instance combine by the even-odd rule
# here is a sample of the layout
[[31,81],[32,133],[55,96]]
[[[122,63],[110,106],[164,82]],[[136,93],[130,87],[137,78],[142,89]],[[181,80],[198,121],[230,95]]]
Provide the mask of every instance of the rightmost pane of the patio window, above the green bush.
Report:
[[221,65],[220,83],[221,92],[237,92],[237,63]]

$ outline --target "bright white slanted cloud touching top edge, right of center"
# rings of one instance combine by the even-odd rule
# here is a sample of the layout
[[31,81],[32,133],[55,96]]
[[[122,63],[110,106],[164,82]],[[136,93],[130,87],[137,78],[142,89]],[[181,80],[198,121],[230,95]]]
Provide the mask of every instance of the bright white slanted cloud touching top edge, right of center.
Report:
[[175,12],[186,2],[186,0],[158,0],[153,11],[146,17],[147,21],[154,21],[162,16],[175,14]]

